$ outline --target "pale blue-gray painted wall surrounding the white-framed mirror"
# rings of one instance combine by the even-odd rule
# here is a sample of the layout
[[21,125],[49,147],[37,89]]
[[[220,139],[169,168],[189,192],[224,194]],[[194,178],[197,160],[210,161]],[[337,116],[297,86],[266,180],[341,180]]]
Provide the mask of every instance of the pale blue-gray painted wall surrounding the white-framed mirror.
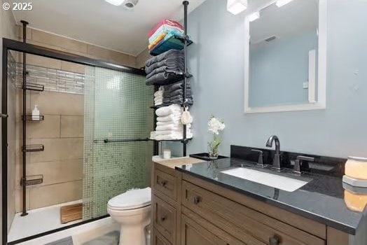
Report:
[[[188,153],[207,151],[207,120],[226,122],[221,154],[230,144],[264,147],[270,134],[281,149],[346,157],[367,156],[367,1],[328,1],[327,109],[244,114],[244,15],[226,1],[207,0],[188,16],[189,65],[195,104]],[[182,153],[175,144],[176,153]]]

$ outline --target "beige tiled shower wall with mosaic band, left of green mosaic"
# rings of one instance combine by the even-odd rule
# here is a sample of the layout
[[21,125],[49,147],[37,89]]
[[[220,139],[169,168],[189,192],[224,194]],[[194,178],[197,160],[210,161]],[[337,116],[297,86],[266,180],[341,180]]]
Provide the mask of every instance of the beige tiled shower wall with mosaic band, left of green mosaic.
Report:
[[[27,113],[31,114],[37,104],[44,116],[43,121],[27,121],[27,144],[45,146],[44,151],[27,153],[27,178],[43,176],[42,184],[27,187],[27,209],[80,200],[83,179],[84,67],[68,64],[69,68],[74,67],[74,72],[62,71],[61,61],[33,55],[27,57],[27,83],[45,85],[43,92],[27,91]],[[34,65],[42,65],[42,62],[47,64]],[[22,64],[18,63],[16,211],[22,208],[21,83]]]

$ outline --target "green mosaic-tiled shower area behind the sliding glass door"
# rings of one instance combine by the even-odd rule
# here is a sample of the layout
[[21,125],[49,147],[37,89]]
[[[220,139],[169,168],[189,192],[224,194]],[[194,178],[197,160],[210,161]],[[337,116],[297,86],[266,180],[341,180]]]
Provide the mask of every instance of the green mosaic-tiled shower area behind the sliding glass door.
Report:
[[144,76],[88,67],[84,104],[83,219],[90,219],[107,214],[111,197],[149,186],[153,142],[103,139],[146,139],[153,130],[153,89]]

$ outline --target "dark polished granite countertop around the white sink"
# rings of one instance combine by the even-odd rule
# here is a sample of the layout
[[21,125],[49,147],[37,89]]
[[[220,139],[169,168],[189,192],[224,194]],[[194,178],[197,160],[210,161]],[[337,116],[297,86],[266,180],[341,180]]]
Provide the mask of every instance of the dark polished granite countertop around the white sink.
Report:
[[[298,190],[287,192],[222,173],[234,167],[248,167],[310,182]],[[356,234],[359,223],[366,216],[366,209],[363,216],[363,213],[351,211],[347,208],[340,176],[328,176],[312,172],[302,174],[302,176],[293,175],[291,171],[278,173],[272,169],[261,169],[254,162],[239,158],[225,158],[195,165],[182,165],[176,167],[176,169],[351,235]]]

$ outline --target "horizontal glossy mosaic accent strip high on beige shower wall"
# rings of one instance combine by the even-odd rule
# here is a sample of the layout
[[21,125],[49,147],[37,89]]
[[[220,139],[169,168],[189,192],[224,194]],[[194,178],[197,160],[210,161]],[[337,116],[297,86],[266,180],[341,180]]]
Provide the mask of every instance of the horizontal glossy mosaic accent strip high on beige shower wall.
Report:
[[[17,87],[22,87],[23,64],[16,63]],[[27,83],[45,86],[45,91],[84,94],[84,74],[27,64]]]

